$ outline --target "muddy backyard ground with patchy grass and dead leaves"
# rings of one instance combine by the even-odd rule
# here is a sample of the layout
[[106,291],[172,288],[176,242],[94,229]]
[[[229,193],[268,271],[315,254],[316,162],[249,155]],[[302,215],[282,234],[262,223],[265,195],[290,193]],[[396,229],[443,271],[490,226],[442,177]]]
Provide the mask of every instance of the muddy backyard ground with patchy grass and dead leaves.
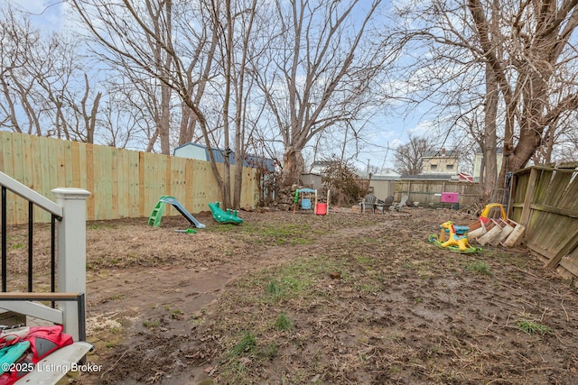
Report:
[[[207,225],[196,234],[175,232],[189,226],[182,216],[159,228],[147,218],[88,224],[88,362],[101,366],[68,381],[578,383],[573,282],[524,247],[461,254],[428,243],[443,222],[475,216],[195,216]],[[24,230],[9,229],[16,276]],[[41,271],[46,228],[35,232]]]

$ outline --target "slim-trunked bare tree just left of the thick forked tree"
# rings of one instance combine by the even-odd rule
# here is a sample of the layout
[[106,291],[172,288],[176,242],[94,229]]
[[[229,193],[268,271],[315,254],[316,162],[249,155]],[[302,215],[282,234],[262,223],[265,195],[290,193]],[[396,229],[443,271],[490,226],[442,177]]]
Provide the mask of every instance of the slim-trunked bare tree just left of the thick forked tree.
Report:
[[[400,67],[406,101],[427,106],[443,146],[452,141],[461,153],[480,151],[482,194],[497,182],[499,92],[496,81],[475,54],[475,33],[463,5],[437,0],[413,3],[396,12],[396,37],[411,59]],[[408,63],[408,64],[407,64]],[[476,142],[476,145],[471,145]]]

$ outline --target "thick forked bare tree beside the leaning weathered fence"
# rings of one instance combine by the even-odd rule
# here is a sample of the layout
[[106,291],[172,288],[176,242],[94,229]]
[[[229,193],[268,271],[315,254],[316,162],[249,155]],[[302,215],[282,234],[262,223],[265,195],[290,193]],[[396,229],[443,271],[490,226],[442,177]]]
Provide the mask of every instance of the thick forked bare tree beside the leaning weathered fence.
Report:
[[[567,49],[578,26],[576,5],[575,0],[499,4],[500,28],[492,28],[486,16],[489,5],[468,1],[480,55],[488,61],[506,105],[500,181],[507,172],[526,166],[547,128],[555,129],[552,124],[560,116],[578,107],[578,91],[572,87],[576,74],[564,71],[566,63],[576,60],[575,51]],[[489,37],[495,34],[507,61],[496,54],[496,41]],[[561,88],[562,96],[555,97]]]

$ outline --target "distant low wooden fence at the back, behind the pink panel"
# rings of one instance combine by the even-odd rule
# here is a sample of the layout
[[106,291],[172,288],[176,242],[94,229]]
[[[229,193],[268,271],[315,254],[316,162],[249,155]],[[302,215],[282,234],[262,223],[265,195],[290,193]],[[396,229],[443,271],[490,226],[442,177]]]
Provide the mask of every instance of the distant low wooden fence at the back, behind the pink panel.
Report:
[[440,206],[444,192],[455,192],[460,196],[459,206],[480,203],[480,185],[472,182],[450,182],[443,180],[398,180],[394,198],[399,202],[407,196],[410,202],[419,202],[419,206]]

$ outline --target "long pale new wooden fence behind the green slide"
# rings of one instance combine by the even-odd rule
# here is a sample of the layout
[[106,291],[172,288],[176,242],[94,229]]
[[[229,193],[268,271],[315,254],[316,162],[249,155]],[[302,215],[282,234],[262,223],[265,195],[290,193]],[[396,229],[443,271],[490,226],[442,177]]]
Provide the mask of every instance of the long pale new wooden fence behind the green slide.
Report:
[[[53,188],[87,189],[88,220],[149,216],[163,195],[176,197],[191,213],[221,200],[207,161],[9,132],[0,132],[0,151],[0,170],[44,197],[52,198]],[[256,171],[244,169],[241,206],[256,206]],[[10,194],[9,225],[28,223],[27,207]],[[178,214],[167,209],[167,215]],[[50,215],[35,212],[34,222],[50,222]]]

